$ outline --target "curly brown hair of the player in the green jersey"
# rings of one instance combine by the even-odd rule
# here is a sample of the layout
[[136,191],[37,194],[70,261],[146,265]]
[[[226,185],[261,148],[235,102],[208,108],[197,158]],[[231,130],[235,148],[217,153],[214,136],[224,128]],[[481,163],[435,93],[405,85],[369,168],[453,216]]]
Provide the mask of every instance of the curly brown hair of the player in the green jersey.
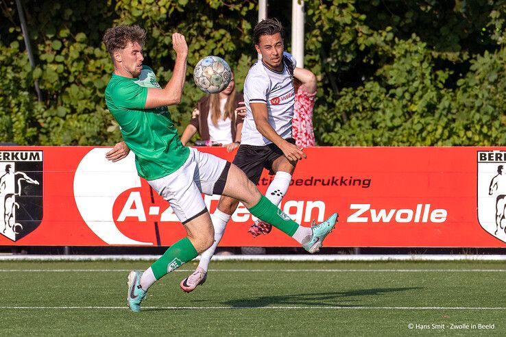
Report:
[[104,34],[104,45],[106,45],[111,58],[115,51],[125,49],[129,42],[138,42],[139,45],[144,45],[145,40],[146,31],[138,25],[119,25],[108,28]]

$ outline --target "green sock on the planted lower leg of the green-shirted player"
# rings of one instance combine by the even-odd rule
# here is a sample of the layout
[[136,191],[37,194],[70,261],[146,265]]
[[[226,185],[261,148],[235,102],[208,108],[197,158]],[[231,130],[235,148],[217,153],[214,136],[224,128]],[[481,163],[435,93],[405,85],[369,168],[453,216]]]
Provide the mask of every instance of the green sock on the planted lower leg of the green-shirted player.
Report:
[[189,238],[182,238],[171,245],[158,260],[151,265],[156,279],[161,279],[167,273],[196,258],[198,255]]

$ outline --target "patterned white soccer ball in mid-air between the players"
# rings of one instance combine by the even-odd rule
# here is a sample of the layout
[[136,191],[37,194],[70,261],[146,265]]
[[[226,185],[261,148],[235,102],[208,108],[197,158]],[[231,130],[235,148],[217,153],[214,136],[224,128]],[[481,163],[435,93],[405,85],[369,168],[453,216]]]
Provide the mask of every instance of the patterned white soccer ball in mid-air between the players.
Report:
[[193,70],[193,81],[206,94],[216,94],[230,83],[232,71],[224,59],[218,56],[206,56]]

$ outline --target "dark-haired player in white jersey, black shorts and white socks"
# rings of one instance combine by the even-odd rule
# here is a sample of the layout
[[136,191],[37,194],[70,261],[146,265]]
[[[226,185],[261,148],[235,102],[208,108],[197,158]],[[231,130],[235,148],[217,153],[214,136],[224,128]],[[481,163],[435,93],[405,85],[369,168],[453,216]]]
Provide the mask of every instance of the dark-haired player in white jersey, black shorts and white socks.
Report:
[[[274,205],[279,205],[288,190],[297,161],[306,158],[291,138],[295,103],[293,76],[297,77],[297,68],[293,57],[284,52],[282,25],[278,20],[267,19],[258,23],[254,28],[254,42],[262,59],[253,64],[245,80],[244,101],[247,114],[243,123],[241,146],[233,164],[241,168],[254,184],[258,184],[264,168],[275,175],[265,197]],[[191,292],[206,281],[210,258],[238,204],[239,201],[230,197],[222,196],[219,199],[218,208],[211,217],[215,228],[215,243],[202,253],[197,270],[182,280],[182,290]],[[269,223],[256,221],[248,232],[256,237],[269,233],[271,229]],[[287,234],[307,251],[316,251],[321,243],[312,239],[308,229],[309,227],[301,226]]]

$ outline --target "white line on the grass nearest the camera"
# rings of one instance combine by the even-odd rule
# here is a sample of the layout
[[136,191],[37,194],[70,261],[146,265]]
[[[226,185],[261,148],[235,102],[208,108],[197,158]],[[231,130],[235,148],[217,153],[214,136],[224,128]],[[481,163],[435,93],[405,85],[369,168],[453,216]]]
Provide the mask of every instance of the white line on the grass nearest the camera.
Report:
[[[129,310],[123,307],[18,307],[18,306],[0,306],[1,309],[19,309],[19,310],[39,310],[39,309],[119,309]],[[148,307],[143,309],[165,309],[165,310],[232,310],[232,309],[267,309],[267,310],[283,310],[283,309],[317,309],[317,310],[506,310],[506,307],[339,307],[339,306],[272,306],[272,307]]]

